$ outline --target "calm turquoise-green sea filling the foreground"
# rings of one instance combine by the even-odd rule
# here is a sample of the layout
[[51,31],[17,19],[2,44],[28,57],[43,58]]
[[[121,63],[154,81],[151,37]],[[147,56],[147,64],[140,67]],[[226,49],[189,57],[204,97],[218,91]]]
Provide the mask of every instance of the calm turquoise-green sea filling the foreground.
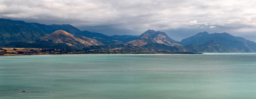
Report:
[[256,99],[256,54],[4,56],[0,99]]

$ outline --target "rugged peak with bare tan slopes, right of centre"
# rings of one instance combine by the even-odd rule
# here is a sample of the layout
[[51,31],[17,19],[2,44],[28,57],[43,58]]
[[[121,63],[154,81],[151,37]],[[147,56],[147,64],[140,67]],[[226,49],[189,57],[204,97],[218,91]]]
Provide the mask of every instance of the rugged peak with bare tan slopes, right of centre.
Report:
[[171,39],[165,32],[147,30],[138,39],[129,41],[128,44],[146,45],[149,43],[162,43],[167,46],[181,46],[178,41]]

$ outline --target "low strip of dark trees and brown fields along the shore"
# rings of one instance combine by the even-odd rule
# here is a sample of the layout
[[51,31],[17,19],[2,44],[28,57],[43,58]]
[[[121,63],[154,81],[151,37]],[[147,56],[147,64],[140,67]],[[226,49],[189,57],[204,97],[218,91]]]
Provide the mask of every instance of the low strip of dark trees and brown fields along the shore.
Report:
[[[16,49],[16,50],[13,50]],[[49,55],[49,54],[202,54],[172,51],[108,51],[108,50],[72,50],[48,48],[0,48],[0,56]]]

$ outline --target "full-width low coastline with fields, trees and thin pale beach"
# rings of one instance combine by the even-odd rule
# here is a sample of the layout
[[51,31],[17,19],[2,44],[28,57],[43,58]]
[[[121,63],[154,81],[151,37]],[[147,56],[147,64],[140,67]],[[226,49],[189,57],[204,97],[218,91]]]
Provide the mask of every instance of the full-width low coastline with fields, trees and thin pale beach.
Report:
[[256,54],[256,53],[192,53],[192,52],[157,52],[157,51],[84,51],[56,50],[43,48],[2,48],[0,56],[52,56],[52,55],[226,55],[226,54]]

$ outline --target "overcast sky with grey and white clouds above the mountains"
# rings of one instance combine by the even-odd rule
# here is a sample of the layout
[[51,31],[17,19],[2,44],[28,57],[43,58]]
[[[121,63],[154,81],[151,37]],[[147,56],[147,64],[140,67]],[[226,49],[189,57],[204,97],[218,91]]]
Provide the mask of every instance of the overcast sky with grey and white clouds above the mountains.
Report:
[[256,41],[256,0],[0,0],[0,18],[71,24],[106,35],[164,31],[181,41],[227,32]]

